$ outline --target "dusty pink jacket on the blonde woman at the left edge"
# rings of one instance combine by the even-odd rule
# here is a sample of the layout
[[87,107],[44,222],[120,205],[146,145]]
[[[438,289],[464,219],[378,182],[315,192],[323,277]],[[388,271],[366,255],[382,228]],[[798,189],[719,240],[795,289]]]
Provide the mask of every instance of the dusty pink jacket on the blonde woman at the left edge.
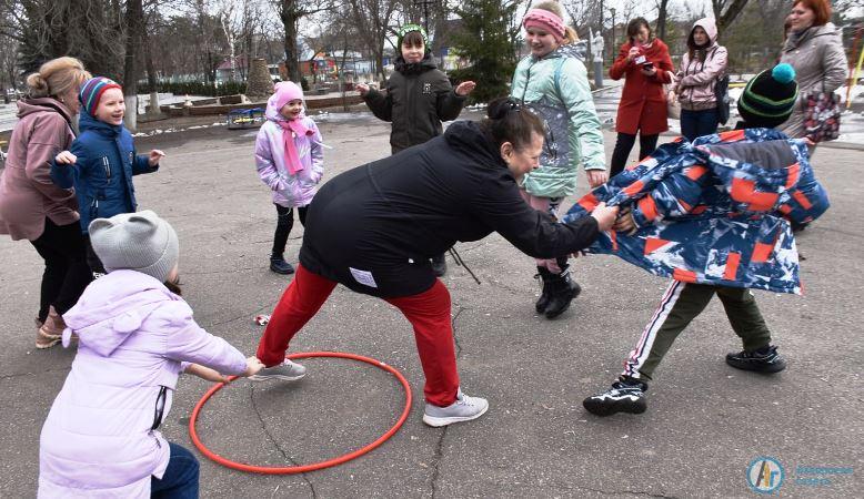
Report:
[[34,241],[44,232],[46,217],[57,225],[78,222],[74,190],[51,180],[51,160],[74,140],[71,119],[57,99],[18,101],[19,121],[0,173],[0,234]]

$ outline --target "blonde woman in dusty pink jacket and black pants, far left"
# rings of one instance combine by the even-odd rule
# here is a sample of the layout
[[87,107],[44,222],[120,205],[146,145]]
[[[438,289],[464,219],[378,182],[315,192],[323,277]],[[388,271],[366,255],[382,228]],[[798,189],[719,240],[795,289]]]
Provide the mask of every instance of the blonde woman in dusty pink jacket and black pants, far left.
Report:
[[0,234],[28,240],[44,259],[37,348],[60,342],[61,317],[90,283],[78,202],[71,189],[51,181],[50,163],[69,149],[78,114],[78,90],[90,78],[81,61],[59,58],[27,78],[28,96],[18,102],[18,124],[0,176]]

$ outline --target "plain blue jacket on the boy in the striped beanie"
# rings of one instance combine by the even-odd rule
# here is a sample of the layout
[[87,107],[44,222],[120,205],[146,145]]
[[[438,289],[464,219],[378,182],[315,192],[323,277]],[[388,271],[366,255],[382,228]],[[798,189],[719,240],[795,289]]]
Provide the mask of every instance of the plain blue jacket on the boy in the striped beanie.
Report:
[[152,173],[147,155],[135,155],[132,135],[123,125],[111,125],[89,113],[81,113],[81,134],[69,150],[73,165],[51,161],[51,179],[60,187],[76,187],[81,213],[81,232],[93,218],[133,213],[138,207],[132,175]]

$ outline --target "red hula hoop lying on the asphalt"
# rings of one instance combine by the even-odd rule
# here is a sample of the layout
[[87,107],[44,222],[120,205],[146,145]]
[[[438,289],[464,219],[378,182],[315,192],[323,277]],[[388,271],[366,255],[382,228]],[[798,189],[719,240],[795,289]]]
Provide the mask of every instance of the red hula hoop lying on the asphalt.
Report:
[[[399,428],[402,426],[403,422],[405,422],[405,419],[408,419],[408,414],[411,411],[411,386],[408,384],[408,380],[400,371],[398,371],[395,368],[380,361],[375,360],[370,357],[363,357],[362,355],[355,355],[355,354],[345,354],[341,352],[308,352],[308,353],[298,353],[298,354],[291,354],[287,355],[285,358],[289,359],[295,359],[295,358],[309,358],[309,357],[338,357],[338,358],[348,358],[352,360],[359,360],[366,364],[371,364],[380,369],[384,369],[388,373],[392,374],[396,377],[399,383],[402,384],[402,387],[405,389],[405,407],[402,409],[402,415],[396,420],[395,425],[393,425],[392,428],[390,428],[384,435],[379,437],[372,444],[369,444],[368,446],[354,450],[353,452],[349,452],[342,456],[339,456],[333,459],[329,459],[325,461],[319,461],[313,462],[311,465],[303,465],[303,466],[284,466],[284,467],[270,467],[270,466],[253,466],[253,465],[247,465],[243,462],[235,462],[230,459],[225,459],[222,456],[213,452],[212,450],[208,449],[203,442],[201,442],[201,439],[198,437],[198,431],[195,430],[195,422],[198,421],[198,415],[201,413],[201,409],[204,407],[204,404],[212,397],[217,391],[222,389],[224,386],[223,383],[218,383],[213,385],[203,397],[201,397],[201,400],[195,404],[195,408],[192,409],[192,417],[189,420],[189,436],[192,438],[192,442],[198,447],[198,450],[201,451],[204,456],[207,456],[209,459],[224,466],[228,468],[237,469],[240,471],[248,471],[253,473],[264,473],[264,475],[294,475],[294,473],[304,473],[307,471],[314,471],[318,469],[324,469],[330,468],[333,466],[341,465],[343,462],[350,461],[351,459],[354,459],[356,457],[360,457],[372,449],[379,447],[381,444],[386,441],[390,437],[392,437]],[[237,379],[237,376],[230,376],[230,380]]]

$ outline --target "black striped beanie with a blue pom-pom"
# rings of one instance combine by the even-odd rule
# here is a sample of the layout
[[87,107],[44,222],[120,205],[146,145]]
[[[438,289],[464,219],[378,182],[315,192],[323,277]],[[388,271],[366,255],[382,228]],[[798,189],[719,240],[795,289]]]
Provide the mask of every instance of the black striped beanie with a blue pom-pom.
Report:
[[739,114],[747,128],[773,129],[788,120],[797,96],[795,69],[777,64],[747,82],[739,98]]

